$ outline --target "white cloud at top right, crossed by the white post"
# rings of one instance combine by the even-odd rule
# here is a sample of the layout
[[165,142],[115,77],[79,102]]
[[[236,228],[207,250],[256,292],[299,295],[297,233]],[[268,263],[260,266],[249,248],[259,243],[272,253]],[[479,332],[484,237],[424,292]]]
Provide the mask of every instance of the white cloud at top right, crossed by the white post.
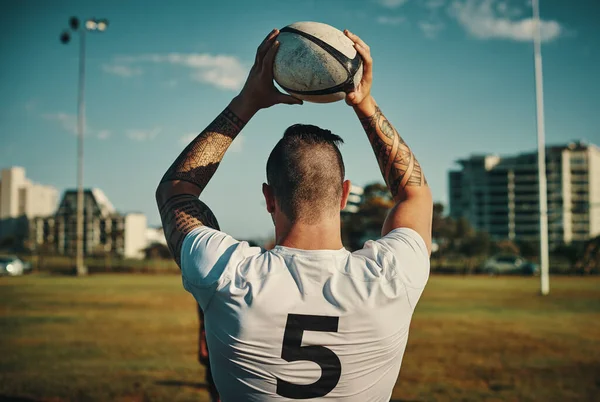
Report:
[[[455,0],[450,15],[477,39],[509,39],[518,42],[531,41],[535,22],[533,18],[514,19],[520,13],[505,2],[497,0]],[[550,42],[564,33],[556,21],[540,21],[543,41]]]

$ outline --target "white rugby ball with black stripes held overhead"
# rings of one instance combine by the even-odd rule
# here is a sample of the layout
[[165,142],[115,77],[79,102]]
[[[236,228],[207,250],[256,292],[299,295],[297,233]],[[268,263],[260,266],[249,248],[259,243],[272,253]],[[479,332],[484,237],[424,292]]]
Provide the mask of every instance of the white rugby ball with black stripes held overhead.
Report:
[[339,29],[296,22],[280,29],[277,40],[273,75],[290,95],[307,102],[336,102],[360,83],[362,58]]

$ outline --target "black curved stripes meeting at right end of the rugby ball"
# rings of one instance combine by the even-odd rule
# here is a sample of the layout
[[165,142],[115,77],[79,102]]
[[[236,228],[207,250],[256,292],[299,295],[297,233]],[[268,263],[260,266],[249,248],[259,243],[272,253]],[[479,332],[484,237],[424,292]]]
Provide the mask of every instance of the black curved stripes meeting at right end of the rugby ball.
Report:
[[314,90],[314,91],[298,91],[298,90],[286,88],[283,85],[279,84],[279,86],[281,86],[281,88],[283,88],[285,91],[287,91],[289,93],[295,93],[298,95],[330,95],[330,94],[334,94],[336,92],[342,92],[342,91],[349,92],[354,89],[354,75],[356,74],[356,72],[358,71],[360,66],[362,65],[362,58],[360,57],[360,54],[358,52],[356,52],[356,56],[354,56],[354,58],[351,59],[351,58],[347,57],[345,54],[343,54],[342,52],[340,52],[339,50],[337,50],[336,48],[334,48],[333,46],[331,46],[329,43],[326,43],[326,42],[322,41],[321,39],[319,39],[309,33],[306,33],[304,31],[300,31],[298,29],[287,26],[287,27],[281,28],[279,30],[279,32],[294,33],[296,35],[300,35],[300,36],[308,39],[309,41],[313,42],[315,45],[319,46],[321,49],[323,49],[327,53],[329,53],[334,59],[336,59],[342,65],[344,70],[346,70],[346,73],[348,74],[348,78],[346,78],[346,81],[344,81],[341,84],[338,84],[334,87],[331,87],[331,88],[318,89],[318,90]]

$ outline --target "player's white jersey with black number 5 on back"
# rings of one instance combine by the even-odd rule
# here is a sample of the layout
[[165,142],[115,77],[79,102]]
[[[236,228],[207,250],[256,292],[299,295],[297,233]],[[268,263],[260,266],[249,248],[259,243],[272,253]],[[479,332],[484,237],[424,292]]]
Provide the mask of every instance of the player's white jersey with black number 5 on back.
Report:
[[265,251],[200,227],[181,250],[223,402],[389,401],[429,277],[421,236],[395,229],[354,253]]

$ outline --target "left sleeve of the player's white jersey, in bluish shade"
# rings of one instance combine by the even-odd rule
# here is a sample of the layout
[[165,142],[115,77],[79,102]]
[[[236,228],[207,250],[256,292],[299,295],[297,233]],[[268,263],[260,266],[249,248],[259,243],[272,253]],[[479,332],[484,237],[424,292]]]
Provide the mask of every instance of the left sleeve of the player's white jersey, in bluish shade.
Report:
[[260,251],[259,247],[250,247],[221,231],[207,226],[196,228],[188,233],[181,246],[183,287],[206,310],[227,279],[228,267]]

